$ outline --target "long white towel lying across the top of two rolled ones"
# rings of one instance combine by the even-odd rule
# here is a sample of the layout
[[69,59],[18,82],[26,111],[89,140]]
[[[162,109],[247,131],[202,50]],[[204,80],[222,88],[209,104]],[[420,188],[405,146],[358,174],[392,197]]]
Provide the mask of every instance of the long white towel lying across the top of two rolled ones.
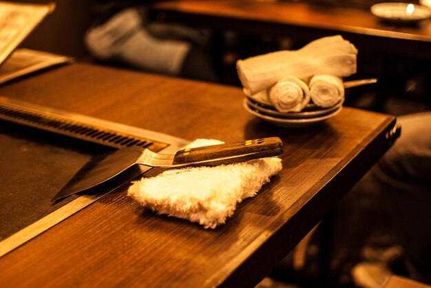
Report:
[[340,35],[319,38],[298,50],[253,56],[236,63],[244,93],[251,96],[293,76],[317,74],[347,77],[357,71],[357,49]]

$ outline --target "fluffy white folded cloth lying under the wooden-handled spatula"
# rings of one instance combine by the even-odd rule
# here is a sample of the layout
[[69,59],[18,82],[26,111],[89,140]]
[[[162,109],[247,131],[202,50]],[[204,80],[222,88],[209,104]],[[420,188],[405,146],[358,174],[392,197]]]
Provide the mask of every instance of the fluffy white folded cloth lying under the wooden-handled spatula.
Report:
[[[201,139],[189,147],[221,143]],[[280,158],[268,157],[213,167],[167,170],[156,177],[135,181],[127,194],[159,214],[215,228],[233,215],[237,203],[255,196],[281,169]]]

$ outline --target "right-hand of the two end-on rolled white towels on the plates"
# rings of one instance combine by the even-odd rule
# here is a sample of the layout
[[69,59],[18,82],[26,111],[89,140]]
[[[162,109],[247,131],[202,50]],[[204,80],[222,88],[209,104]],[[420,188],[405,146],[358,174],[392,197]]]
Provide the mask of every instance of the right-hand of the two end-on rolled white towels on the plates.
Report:
[[315,75],[310,83],[311,100],[319,107],[333,107],[344,100],[344,85],[340,77],[333,75]]

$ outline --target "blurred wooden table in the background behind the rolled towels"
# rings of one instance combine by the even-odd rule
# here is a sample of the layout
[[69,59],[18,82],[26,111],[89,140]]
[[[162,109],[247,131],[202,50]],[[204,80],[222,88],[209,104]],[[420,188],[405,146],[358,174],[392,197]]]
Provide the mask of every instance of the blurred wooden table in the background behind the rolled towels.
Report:
[[359,51],[431,58],[431,20],[418,25],[382,23],[368,9],[312,5],[304,1],[177,0],[151,8],[158,21],[246,33],[290,36],[300,41],[341,34]]

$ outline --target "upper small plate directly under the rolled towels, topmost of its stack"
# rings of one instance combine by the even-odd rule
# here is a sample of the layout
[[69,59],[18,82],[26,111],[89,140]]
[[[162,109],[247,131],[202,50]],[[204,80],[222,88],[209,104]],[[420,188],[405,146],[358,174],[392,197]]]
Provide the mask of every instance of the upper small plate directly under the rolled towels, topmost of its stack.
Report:
[[268,107],[266,105],[262,105],[260,103],[253,102],[253,100],[250,100],[247,98],[245,100],[246,100],[247,104],[249,104],[249,107],[259,111],[259,113],[261,113],[261,114],[268,115],[268,116],[275,117],[275,118],[288,118],[288,119],[304,119],[304,118],[320,117],[320,116],[329,114],[329,113],[337,110],[343,104],[343,102],[341,101],[341,102],[338,102],[337,104],[335,104],[333,107],[329,107],[329,108],[316,107],[315,110],[311,110],[311,111],[284,113],[284,112],[280,112],[280,111],[277,111],[275,109],[272,109],[271,107]]

